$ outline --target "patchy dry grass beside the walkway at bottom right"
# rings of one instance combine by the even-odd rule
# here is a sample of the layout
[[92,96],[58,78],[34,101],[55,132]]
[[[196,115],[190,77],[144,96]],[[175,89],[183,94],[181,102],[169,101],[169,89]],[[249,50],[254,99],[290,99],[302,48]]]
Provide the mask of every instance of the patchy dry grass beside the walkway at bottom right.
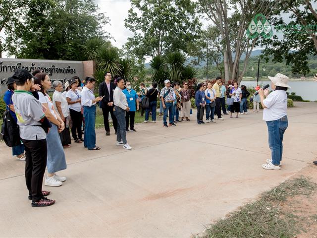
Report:
[[287,180],[217,221],[202,238],[292,238],[301,230],[299,217],[281,209],[281,201],[294,195],[310,195],[317,184],[301,177]]

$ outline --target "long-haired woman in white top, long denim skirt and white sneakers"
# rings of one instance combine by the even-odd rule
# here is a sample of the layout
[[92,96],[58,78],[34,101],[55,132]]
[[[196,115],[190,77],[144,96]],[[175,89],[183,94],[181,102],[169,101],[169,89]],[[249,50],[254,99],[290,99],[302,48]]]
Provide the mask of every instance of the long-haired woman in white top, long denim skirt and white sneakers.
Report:
[[35,76],[37,79],[34,81],[34,83],[41,85],[39,101],[47,109],[45,116],[52,123],[52,127],[47,134],[48,176],[46,177],[44,184],[46,186],[57,187],[62,185],[62,182],[66,180],[66,177],[60,177],[56,175],[56,172],[65,170],[67,168],[65,153],[59,137],[59,132],[65,128],[65,125],[63,120],[56,113],[53,107],[53,102],[50,96],[47,94],[47,91],[52,85],[49,75],[46,73],[37,73]]

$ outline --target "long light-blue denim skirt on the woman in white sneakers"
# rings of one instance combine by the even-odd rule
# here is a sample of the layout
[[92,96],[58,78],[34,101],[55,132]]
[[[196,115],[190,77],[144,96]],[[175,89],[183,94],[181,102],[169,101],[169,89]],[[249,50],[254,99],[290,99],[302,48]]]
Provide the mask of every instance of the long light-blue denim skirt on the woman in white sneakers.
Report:
[[52,123],[52,127],[47,134],[48,161],[47,168],[50,174],[67,168],[63,146],[60,141],[57,126]]

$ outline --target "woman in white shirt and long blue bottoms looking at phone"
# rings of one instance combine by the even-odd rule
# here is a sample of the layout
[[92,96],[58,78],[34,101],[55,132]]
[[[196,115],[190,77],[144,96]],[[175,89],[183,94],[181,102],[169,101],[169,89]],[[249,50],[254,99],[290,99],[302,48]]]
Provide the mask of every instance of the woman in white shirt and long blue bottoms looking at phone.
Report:
[[96,132],[95,132],[95,120],[96,120],[96,103],[100,102],[103,97],[95,97],[94,87],[96,80],[92,77],[86,77],[84,81],[84,88],[81,91],[81,100],[84,108],[84,118],[86,121],[85,126],[85,138],[84,146],[88,150],[100,150],[96,146]]

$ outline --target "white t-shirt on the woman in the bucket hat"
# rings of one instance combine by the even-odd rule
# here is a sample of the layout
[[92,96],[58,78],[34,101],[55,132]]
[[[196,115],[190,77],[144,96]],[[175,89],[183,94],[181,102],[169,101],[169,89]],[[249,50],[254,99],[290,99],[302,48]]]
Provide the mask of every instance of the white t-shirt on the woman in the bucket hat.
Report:
[[287,115],[287,94],[284,90],[271,92],[263,101],[266,108],[263,110],[265,121],[277,120]]

